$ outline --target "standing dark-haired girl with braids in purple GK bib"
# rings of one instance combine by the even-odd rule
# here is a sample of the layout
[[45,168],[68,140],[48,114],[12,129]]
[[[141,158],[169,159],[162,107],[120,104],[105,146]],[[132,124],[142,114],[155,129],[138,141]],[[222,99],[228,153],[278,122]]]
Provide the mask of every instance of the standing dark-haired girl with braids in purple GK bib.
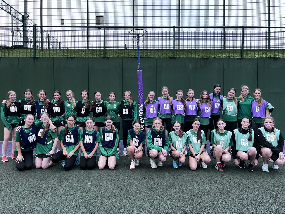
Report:
[[221,95],[221,89],[222,86],[219,84],[214,85],[214,90],[212,94],[209,94],[211,99],[211,118],[210,118],[210,136],[209,139],[211,139],[211,133],[212,130],[217,128],[217,120],[220,118],[220,112],[222,108],[222,99],[223,96]]

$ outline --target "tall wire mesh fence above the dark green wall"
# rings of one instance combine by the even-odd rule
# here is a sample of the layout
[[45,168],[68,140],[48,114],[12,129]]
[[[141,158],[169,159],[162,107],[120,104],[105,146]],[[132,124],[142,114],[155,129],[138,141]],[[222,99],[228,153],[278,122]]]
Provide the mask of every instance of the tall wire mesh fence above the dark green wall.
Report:
[[[284,57],[282,0],[0,0],[0,56]],[[242,27],[244,26],[244,27]]]

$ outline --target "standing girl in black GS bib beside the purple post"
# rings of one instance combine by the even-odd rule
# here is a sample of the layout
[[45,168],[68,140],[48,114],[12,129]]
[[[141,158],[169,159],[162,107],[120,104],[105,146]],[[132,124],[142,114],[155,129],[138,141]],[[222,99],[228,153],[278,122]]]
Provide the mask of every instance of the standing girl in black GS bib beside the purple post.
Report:
[[123,155],[127,155],[128,131],[133,128],[133,122],[138,118],[137,104],[132,99],[131,92],[125,91],[123,100],[121,101],[122,108],[122,129],[123,129]]

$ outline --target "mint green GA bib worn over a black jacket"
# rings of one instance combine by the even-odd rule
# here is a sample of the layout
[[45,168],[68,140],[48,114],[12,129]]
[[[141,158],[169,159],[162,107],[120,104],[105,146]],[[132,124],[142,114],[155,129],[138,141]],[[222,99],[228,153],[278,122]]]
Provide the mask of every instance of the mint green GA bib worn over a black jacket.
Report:
[[252,140],[249,138],[249,132],[247,134],[241,134],[238,129],[233,130],[235,134],[235,147],[236,150],[247,152],[253,146],[254,132],[251,130]]

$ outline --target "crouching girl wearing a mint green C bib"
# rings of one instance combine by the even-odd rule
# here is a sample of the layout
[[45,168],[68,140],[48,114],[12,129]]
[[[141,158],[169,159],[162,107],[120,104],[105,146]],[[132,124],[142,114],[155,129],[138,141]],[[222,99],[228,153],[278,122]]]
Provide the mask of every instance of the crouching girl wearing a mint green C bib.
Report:
[[218,119],[216,130],[212,131],[211,141],[213,148],[211,149],[211,156],[217,160],[216,169],[223,171],[225,162],[231,160],[231,154],[229,152],[230,146],[233,145],[232,133],[225,130],[225,120]]

